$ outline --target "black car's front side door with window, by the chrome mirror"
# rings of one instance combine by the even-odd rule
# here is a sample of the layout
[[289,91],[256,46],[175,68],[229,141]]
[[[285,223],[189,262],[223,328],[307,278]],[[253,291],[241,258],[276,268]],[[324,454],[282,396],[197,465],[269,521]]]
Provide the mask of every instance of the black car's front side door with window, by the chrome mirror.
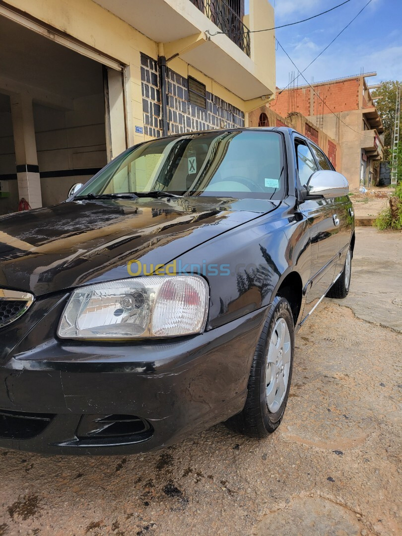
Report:
[[[302,185],[306,185],[312,173],[319,169],[318,162],[308,143],[295,140],[297,170]],[[337,219],[334,218],[333,199],[307,199],[300,205],[310,227],[311,270],[306,288],[307,315],[331,286],[338,258]]]

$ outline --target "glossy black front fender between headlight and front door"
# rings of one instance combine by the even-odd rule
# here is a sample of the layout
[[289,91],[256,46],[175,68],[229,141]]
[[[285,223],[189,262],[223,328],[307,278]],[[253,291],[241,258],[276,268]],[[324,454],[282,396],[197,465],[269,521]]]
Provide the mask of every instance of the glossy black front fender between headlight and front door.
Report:
[[272,302],[288,273],[310,271],[310,233],[283,203],[270,214],[242,225],[178,257],[182,272],[201,273],[211,289],[207,329]]

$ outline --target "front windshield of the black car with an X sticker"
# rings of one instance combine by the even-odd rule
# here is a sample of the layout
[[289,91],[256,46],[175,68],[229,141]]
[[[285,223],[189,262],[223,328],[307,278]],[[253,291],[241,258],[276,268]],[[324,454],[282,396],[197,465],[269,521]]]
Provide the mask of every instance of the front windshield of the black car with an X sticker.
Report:
[[129,193],[282,199],[282,137],[274,131],[188,133],[125,151],[77,197]]

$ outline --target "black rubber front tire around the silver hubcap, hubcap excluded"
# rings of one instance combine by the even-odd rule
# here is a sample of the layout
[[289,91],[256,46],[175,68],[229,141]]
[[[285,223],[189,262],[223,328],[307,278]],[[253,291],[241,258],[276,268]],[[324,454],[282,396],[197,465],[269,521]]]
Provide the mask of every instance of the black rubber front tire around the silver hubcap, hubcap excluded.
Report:
[[[278,320],[284,318],[290,339],[290,363],[289,376],[285,398],[278,411],[271,413],[266,403],[266,368],[267,351],[274,327]],[[226,421],[226,425],[237,433],[249,437],[263,438],[275,431],[284,416],[289,389],[292,381],[294,354],[294,324],[291,306],[289,302],[280,296],[276,296],[272,302],[269,315],[265,321],[257,348],[252,360],[251,372],[248,382],[248,394],[243,410]]]

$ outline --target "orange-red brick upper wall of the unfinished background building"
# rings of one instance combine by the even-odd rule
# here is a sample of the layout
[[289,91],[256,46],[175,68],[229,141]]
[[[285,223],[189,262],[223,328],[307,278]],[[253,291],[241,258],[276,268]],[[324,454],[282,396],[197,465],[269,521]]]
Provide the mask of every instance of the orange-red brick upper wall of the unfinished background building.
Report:
[[[330,114],[331,111],[349,111],[359,109],[359,88],[360,78],[352,78],[328,84],[313,85],[315,91],[329,106],[330,110],[324,106],[323,102],[311,90],[310,87],[302,87],[295,90],[285,90],[270,103],[270,107],[277,114],[286,117],[291,111],[299,111],[304,116]],[[292,99],[289,99],[289,91],[293,91]],[[312,99],[311,99],[312,93]],[[290,110],[292,101],[295,109]],[[310,109],[312,108],[312,109]]]

